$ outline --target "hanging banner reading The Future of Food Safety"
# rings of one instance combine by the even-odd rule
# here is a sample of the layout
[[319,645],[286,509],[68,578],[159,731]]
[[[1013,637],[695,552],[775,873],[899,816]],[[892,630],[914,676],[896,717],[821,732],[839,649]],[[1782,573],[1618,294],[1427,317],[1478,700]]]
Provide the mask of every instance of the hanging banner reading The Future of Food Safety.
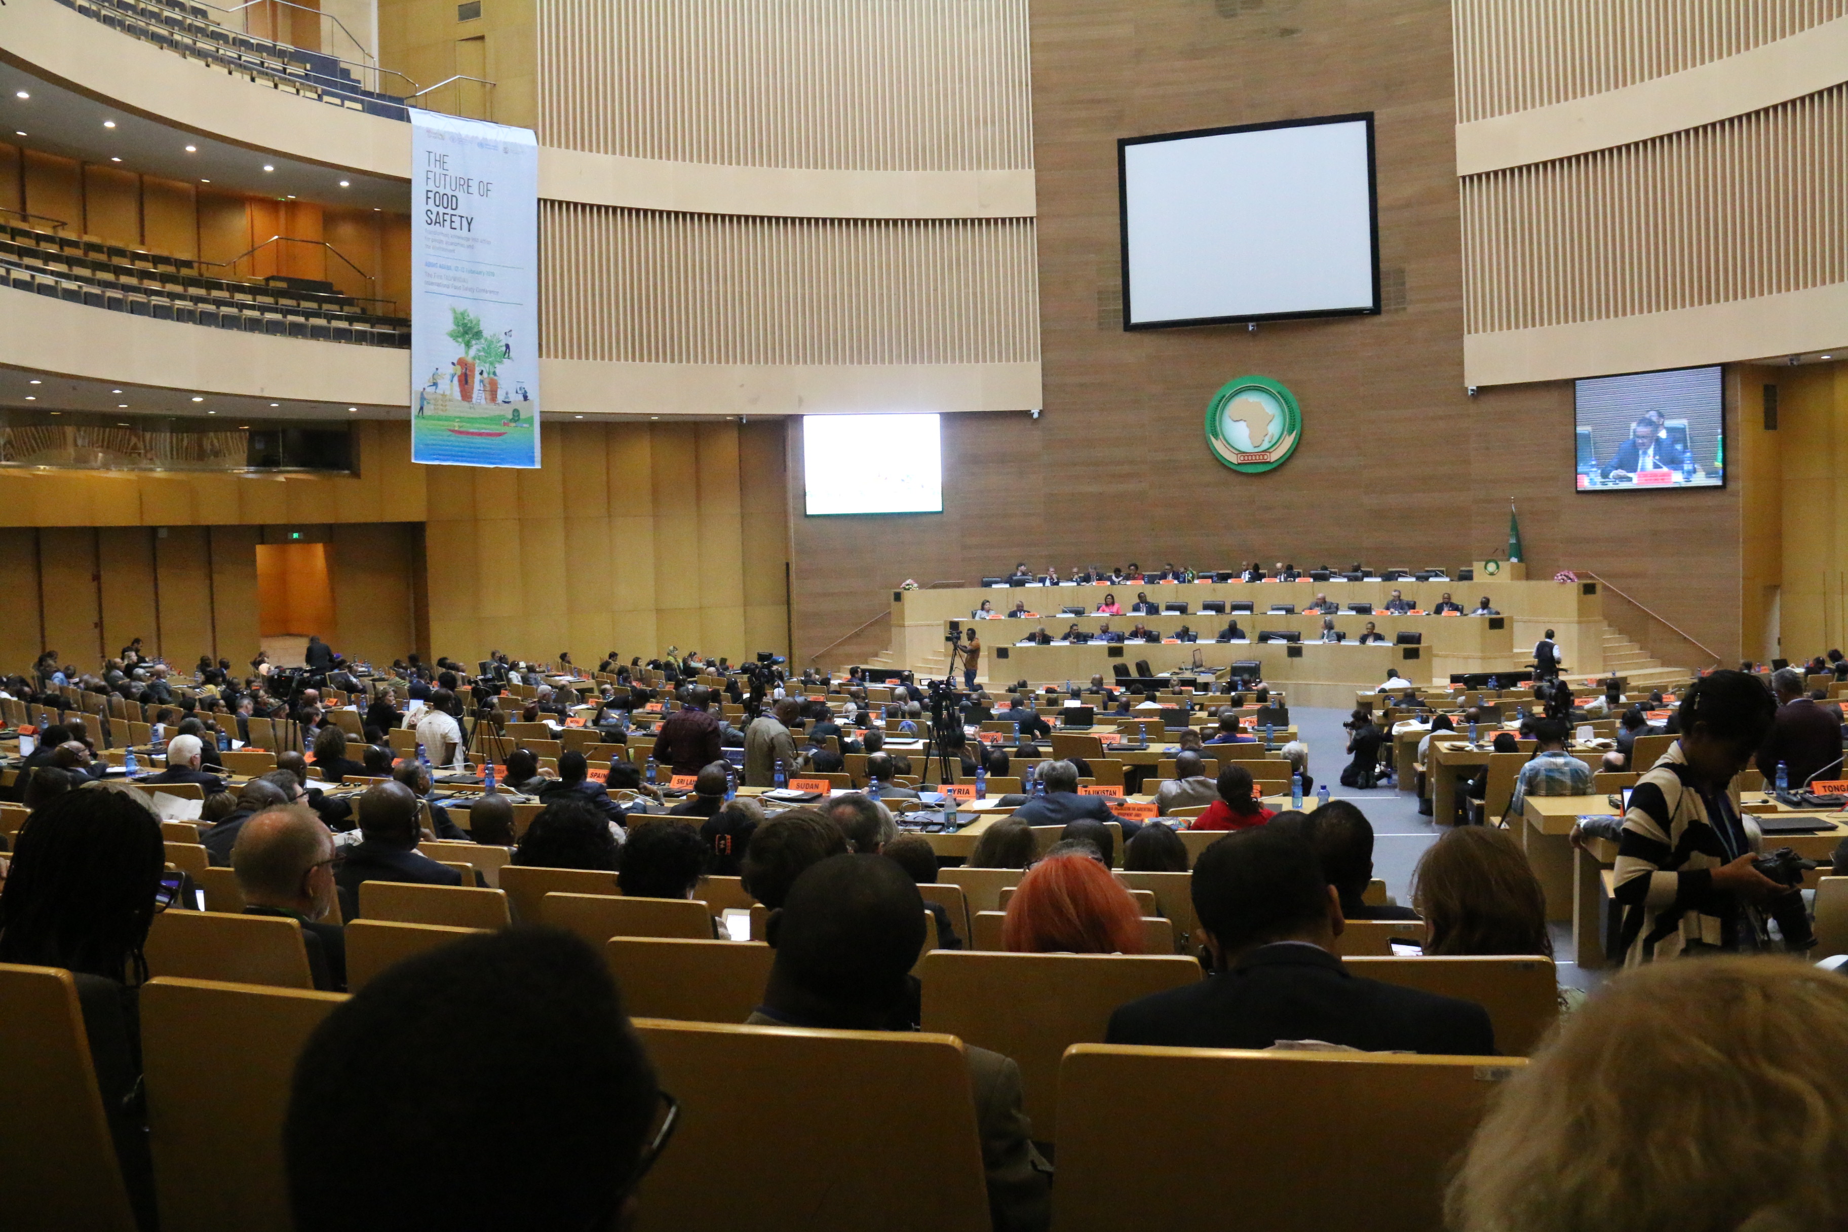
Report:
[[540,144],[410,111],[410,460],[540,465]]

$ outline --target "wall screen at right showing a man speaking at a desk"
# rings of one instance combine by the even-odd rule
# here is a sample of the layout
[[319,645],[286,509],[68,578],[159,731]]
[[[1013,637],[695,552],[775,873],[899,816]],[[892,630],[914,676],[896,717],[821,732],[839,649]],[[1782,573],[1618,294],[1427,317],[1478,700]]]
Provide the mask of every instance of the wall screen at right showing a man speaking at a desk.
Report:
[[1726,486],[1719,368],[1576,382],[1578,491]]

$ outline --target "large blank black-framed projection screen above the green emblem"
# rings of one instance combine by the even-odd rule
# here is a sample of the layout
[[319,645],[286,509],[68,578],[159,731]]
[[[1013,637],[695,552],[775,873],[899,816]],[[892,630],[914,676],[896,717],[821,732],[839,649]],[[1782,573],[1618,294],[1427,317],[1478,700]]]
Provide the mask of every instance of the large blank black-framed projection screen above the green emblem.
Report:
[[1379,312],[1371,115],[1116,148],[1125,329]]

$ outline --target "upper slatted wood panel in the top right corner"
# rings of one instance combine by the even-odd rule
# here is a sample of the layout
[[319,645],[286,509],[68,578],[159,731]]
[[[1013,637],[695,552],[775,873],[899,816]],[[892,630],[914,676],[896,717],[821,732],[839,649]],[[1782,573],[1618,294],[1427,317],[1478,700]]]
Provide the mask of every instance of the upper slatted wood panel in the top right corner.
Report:
[[1848,15],[1848,0],[1454,0],[1456,120],[1695,68]]

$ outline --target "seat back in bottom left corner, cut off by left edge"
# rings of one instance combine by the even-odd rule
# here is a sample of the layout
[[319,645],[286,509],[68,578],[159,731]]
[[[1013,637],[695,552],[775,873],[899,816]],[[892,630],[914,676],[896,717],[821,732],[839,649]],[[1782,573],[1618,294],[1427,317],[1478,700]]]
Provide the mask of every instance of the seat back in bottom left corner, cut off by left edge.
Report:
[[78,981],[0,962],[0,1223],[18,1232],[135,1232]]

